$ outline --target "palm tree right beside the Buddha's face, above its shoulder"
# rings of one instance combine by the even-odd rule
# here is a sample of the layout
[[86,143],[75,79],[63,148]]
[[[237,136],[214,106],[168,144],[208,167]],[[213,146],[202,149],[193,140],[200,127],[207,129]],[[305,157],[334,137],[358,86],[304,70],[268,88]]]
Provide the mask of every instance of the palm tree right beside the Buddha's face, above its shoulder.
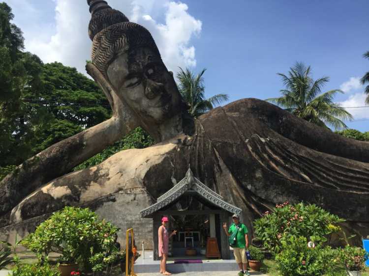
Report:
[[201,114],[212,110],[215,105],[220,105],[223,101],[228,100],[227,94],[218,94],[209,99],[205,99],[205,85],[202,75],[205,73],[204,68],[200,74],[191,72],[188,68],[185,71],[180,68],[177,73],[178,90],[180,91],[184,100],[190,105],[188,113],[196,118]]

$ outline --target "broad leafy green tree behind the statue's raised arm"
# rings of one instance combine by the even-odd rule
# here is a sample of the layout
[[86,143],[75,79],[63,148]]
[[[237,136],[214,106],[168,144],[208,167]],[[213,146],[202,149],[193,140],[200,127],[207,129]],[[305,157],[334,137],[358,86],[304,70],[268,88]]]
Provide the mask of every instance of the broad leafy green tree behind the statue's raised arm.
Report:
[[102,90],[76,68],[60,62],[44,64],[41,80],[42,93],[29,95],[27,102],[49,121],[33,141],[32,155],[110,118],[111,108]]

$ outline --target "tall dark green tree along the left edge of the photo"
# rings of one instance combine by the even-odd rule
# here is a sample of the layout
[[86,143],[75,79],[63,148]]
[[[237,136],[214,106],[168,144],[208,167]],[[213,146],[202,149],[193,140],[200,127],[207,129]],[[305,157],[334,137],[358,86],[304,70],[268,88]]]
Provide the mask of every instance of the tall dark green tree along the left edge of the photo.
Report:
[[11,8],[0,3],[0,174],[2,167],[28,157],[32,139],[46,127],[45,113],[30,113],[24,103],[28,94],[42,91],[42,62],[36,55],[22,52],[22,31],[10,23],[13,18]]

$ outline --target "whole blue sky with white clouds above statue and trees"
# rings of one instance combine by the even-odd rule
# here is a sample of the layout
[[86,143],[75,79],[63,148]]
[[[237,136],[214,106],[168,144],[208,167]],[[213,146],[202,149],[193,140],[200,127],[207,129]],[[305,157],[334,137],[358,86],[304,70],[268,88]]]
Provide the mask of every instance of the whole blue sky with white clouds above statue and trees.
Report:
[[[26,50],[44,62],[60,61],[84,73],[90,59],[86,0],[7,0],[22,28]],[[108,0],[131,21],[148,28],[168,69],[203,68],[206,96],[278,97],[277,72],[295,61],[329,76],[323,92],[342,89],[349,128],[369,131],[369,107],[358,80],[369,71],[368,0]]]

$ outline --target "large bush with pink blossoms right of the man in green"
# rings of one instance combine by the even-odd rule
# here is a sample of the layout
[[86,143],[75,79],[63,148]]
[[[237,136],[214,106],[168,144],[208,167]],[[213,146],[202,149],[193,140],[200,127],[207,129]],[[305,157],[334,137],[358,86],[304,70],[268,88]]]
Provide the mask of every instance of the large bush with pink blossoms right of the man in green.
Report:
[[303,202],[290,205],[288,202],[277,204],[274,212],[265,212],[254,221],[256,237],[264,241],[265,247],[279,251],[282,237],[303,236],[314,241],[327,241],[326,236],[333,230],[330,224],[345,221],[326,212],[315,204]]

